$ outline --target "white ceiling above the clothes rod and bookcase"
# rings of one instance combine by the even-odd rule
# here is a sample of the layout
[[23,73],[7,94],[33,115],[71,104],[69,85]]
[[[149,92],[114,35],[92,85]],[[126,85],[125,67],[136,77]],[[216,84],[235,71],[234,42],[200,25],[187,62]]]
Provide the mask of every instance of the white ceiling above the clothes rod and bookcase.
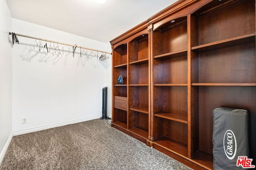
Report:
[[[178,0],[6,0],[12,18],[109,42]],[[33,35],[31,35],[33,36]]]

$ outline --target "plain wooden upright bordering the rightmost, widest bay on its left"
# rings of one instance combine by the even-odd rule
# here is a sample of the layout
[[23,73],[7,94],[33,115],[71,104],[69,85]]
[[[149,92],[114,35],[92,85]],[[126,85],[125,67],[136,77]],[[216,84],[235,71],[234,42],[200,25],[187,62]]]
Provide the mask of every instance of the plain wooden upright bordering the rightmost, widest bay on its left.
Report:
[[188,27],[188,158],[191,158],[191,14],[187,17]]

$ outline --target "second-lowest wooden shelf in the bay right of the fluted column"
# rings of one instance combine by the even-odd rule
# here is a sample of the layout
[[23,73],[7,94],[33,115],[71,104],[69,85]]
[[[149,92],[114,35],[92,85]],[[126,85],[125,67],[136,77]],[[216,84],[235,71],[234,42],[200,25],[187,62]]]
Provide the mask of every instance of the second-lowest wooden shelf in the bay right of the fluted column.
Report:
[[178,121],[181,123],[186,123],[188,124],[188,116],[187,115],[180,115],[180,114],[175,114],[175,113],[168,113],[164,111],[156,112],[154,113],[156,117],[161,117],[164,119],[169,119],[173,121]]

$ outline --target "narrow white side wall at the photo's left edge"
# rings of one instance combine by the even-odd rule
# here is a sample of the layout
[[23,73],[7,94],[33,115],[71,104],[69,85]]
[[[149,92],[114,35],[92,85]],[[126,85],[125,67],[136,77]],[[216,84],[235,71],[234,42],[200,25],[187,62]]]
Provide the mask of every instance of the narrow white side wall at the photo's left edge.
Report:
[[0,164],[12,139],[12,45],[8,31],[11,15],[5,0],[0,1]]

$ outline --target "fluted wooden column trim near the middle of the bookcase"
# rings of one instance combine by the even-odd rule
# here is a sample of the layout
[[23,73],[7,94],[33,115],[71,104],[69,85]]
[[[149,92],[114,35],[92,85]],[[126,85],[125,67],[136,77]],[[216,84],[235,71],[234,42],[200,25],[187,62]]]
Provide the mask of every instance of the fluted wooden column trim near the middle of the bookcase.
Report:
[[154,98],[153,98],[153,88],[154,88],[154,85],[153,85],[153,59],[154,59],[154,56],[153,56],[153,25],[150,24],[148,26],[148,31],[149,31],[149,72],[150,72],[150,81],[149,81],[149,88],[150,88],[150,94],[149,94],[149,128],[150,128],[150,147],[153,147],[153,142],[154,142],[154,106],[153,106],[153,102],[154,102]]

